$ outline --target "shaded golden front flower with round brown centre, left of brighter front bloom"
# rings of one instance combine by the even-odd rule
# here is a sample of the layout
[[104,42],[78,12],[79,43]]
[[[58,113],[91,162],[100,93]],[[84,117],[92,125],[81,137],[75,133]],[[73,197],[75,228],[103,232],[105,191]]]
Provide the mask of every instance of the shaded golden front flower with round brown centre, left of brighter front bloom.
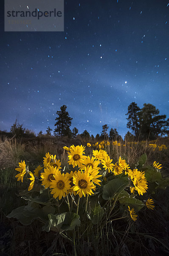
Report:
[[51,194],[53,194],[53,197],[59,197],[60,200],[62,196],[65,197],[68,194],[68,190],[70,189],[70,180],[58,171],[54,174],[54,180],[51,181],[50,188],[52,189]]

